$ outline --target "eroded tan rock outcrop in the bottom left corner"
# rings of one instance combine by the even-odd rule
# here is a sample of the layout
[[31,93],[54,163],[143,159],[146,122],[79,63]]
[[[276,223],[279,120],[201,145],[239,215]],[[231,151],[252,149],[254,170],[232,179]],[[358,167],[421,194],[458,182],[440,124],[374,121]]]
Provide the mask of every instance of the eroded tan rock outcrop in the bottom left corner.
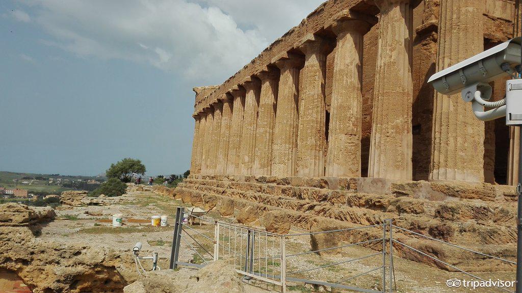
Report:
[[132,260],[99,246],[36,238],[38,225],[54,218],[48,207],[0,205],[0,268],[15,272],[35,293],[116,292],[135,279]]

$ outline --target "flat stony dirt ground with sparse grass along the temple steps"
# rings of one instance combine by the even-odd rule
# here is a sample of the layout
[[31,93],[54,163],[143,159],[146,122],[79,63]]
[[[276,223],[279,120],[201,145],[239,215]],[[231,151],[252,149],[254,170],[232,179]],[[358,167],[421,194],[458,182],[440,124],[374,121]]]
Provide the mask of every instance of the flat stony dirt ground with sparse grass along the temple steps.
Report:
[[[125,195],[125,199],[109,206],[80,206],[73,207],[68,210],[57,210],[57,219],[45,226],[40,238],[43,239],[59,239],[65,242],[77,243],[97,243],[104,247],[128,248],[129,254],[132,253],[132,248],[136,242],[143,243],[143,248],[140,255],[151,255],[152,252],[158,252],[160,260],[158,265],[161,268],[168,268],[172,236],[173,236],[173,222],[175,217],[175,210],[177,206],[189,207],[181,201],[173,200],[168,197],[160,196],[151,191],[136,191]],[[123,226],[112,227],[112,214],[123,214]],[[150,217],[153,215],[168,215],[167,227],[152,227],[150,226]],[[218,212],[210,211],[206,218],[218,220],[226,223],[236,223],[233,217],[221,217]],[[260,224],[257,223],[257,228]],[[195,224],[189,226],[201,234],[213,238],[214,225],[211,223],[199,225]],[[256,227],[256,223],[254,223]],[[184,240],[181,243],[180,261],[203,263],[203,257],[210,260],[210,254],[213,253],[213,244],[199,236],[194,230],[185,229],[182,235]],[[302,233],[302,230],[292,229],[292,233]],[[201,243],[204,248],[199,247],[195,241],[188,235],[192,235],[194,239]],[[186,241],[185,241],[186,240]],[[190,246],[187,244],[190,243]],[[348,243],[342,243],[348,244]],[[192,250],[196,248],[197,253]],[[310,237],[297,236],[289,237],[286,240],[287,254],[310,251]],[[208,250],[208,252],[205,251]],[[343,248],[340,253],[336,255],[319,256],[315,253],[298,255],[296,257],[288,258],[287,274],[306,270],[312,267],[325,266],[332,263],[342,262],[348,259],[363,257],[370,255],[377,251],[361,246],[353,246]],[[199,253],[199,254],[198,254]],[[221,254],[220,254],[221,255]],[[292,274],[291,277],[306,278],[321,280],[323,282],[339,282],[340,280],[357,276],[374,268],[382,266],[382,254],[374,257],[366,258],[360,261],[344,263],[334,266],[327,266],[318,270],[304,272],[299,274]],[[388,259],[387,259],[388,261]],[[488,260],[484,260],[488,261]],[[275,263],[275,265],[278,263]],[[143,261],[146,270],[150,270],[151,262]],[[446,285],[446,280],[473,280],[472,277],[461,273],[452,273],[437,268],[408,261],[405,259],[394,258],[395,267],[395,283],[396,290],[394,292],[410,293],[410,292],[425,292],[425,293],[449,293],[449,292],[502,292],[503,290],[497,288],[475,288],[470,289],[461,285],[459,288],[449,288]],[[193,271],[192,268],[181,268],[185,273]],[[480,277],[488,280],[514,280],[514,272],[474,272]],[[386,273],[388,282],[388,272]],[[365,289],[382,290],[382,270],[378,269],[369,274],[353,278],[344,285],[355,286]],[[263,291],[280,291],[280,287],[268,285],[265,282],[256,280],[245,280],[247,292],[263,292]],[[387,286],[388,287],[388,286]],[[395,286],[394,286],[395,287]],[[512,291],[514,288],[507,288]],[[288,283],[289,291],[301,292],[315,292],[315,291],[334,291],[334,292],[351,292],[338,288],[330,288],[323,286],[312,286],[304,283]]]

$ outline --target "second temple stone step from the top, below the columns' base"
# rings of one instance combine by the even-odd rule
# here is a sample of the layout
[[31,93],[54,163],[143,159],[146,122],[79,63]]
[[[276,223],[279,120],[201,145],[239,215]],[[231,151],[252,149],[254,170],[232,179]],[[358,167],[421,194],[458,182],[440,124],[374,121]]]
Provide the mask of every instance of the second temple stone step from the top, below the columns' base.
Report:
[[263,193],[271,196],[299,200],[325,202],[330,205],[363,207],[379,212],[399,214],[423,214],[448,221],[474,220],[508,223],[516,218],[514,203],[495,203],[481,200],[432,201],[403,196],[401,194],[371,194],[355,191],[329,190],[314,187],[278,186],[253,182],[219,181],[209,179],[186,179],[187,184],[204,185],[245,192]]

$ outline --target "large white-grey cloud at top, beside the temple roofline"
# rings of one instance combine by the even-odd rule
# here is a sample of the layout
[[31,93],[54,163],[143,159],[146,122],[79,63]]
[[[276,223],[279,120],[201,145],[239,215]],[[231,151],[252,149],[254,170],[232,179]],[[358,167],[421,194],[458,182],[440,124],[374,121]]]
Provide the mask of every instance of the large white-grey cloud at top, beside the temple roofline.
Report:
[[298,25],[321,0],[24,0],[50,34],[79,56],[118,58],[220,83]]

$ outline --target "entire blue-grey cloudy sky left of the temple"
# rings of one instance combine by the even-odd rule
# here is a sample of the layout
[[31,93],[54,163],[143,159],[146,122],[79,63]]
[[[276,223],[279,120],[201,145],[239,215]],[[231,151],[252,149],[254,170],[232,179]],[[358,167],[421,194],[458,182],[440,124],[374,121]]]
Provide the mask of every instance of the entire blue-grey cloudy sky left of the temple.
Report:
[[322,0],[0,2],[0,170],[189,168],[196,86],[220,84]]

